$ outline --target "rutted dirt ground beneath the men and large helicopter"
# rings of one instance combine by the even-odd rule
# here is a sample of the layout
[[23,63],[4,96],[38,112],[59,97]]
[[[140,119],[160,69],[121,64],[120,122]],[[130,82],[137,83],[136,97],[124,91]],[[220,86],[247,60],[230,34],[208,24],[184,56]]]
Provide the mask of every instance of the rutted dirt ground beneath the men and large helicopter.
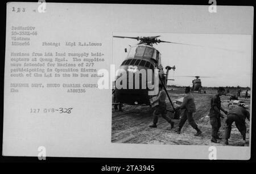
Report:
[[[207,90],[207,94],[193,93],[195,97],[197,112],[193,114],[193,117],[199,126],[199,129],[203,131],[200,137],[196,137],[194,134],[196,130],[193,129],[188,122],[185,123],[181,134],[177,134],[174,130],[179,124],[179,120],[172,120],[175,122],[175,128],[170,129],[171,126],[162,117],[158,119],[157,128],[149,128],[152,124],[152,112],[153,110],[149,106],[133,106],[123,105],[123,112],[115,112],[112,109],[112,142],[113,143],[144,143],[144,144],[167,144],[167,145],[208,145],[208,146],[223,146],[224,139],[218,140],[218,143],[210,142],[211,139],[211,125],[209,122],[209,109],[210,109],[210,97],[216,93],[216,90]],[[184,95],[184,89],[174,88],[168,89],[172,101],[179,99]],[[243,96],[240,99],[249,105],[250,99],[244,99]],[[222,107],[228,109],[229,96],[221,96]],[[172,110],[171,104],[166,100],[167,109]],[[250,111],[249,111],[250,112]],[[171,112],[167,113],[167,116],[173,117]],[[224,135],[225,118],[221,120],[220,137]],[[250,122],[246,120],[247,134],[246,134],[246,146],[249,145],[249,128]],[[232,133],[229,139],[229,146],[243,146],[242,135],[233,123]]]

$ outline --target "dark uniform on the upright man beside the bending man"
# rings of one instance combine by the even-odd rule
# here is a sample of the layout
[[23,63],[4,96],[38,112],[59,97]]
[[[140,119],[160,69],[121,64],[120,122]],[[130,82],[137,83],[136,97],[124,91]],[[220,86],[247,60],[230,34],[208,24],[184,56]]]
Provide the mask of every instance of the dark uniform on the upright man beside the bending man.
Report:
[[217,138],[217,133],[220,130],[221,127],[221,116],[220,114],[215,111],[214,106],[217,107],[218,111],[220,112],[221,108],[221,100],[220,96],[217,94],[212,97],[210,100],[210,125],[212,125],[212,137]]

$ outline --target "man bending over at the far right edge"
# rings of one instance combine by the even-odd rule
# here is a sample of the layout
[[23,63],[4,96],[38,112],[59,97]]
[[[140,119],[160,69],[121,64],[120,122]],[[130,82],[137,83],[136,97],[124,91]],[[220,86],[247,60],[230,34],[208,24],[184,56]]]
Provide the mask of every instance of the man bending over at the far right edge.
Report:
[[246,135],[246,125],[245,125],[245,118],[247,118],[250,121],[250,113],[246,111],[246,109],[243,107],[243,105],[240,105],[239,107],[234,107],[231,109],[227,115],[226,119],[226,127],[225,127],[225,145],[228,145],[228,139],[230,138],[230,133],[232,129],[232,124],[235,122],[237,129],[240,131],[243,137],[244,143],[245,141],[245,135]]

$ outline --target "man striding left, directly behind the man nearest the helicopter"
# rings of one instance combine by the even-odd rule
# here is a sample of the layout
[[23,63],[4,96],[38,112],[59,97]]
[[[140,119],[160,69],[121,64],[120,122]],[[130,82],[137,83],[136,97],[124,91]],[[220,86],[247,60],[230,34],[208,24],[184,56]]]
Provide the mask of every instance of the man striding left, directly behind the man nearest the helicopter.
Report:
[[183,115],[181,116],[179,128],[176,130],[178,134],[180,134],[181,128],[185,124],[185,121],[188,120],[189,124],[192,126],[192,128],[196,129],[197,133],[196,136],[199,136],[202,132],[197,127],[196,122],[193,119],[193,112],[196,112],[196,104],[194,102],[194,97],[190,93],[190,87],[185,88],[185,94],[187,94],[184,99],[183,103],[180,107],[177,107],[176,109],[185,109],[183,112]]

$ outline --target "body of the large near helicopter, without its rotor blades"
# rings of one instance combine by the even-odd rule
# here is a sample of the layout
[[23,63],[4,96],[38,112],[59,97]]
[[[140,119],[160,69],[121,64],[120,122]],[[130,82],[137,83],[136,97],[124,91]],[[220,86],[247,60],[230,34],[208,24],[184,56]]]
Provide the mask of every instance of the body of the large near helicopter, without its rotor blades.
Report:
[[[158,70],[159,74],[164,77],[158,50],[150,45],[132,46],[119,70],[126,73],[127,85],[118,88],[115,84],[115,102],[149,105],[151,97],[154,96],[148,95],[148,91],[152,90],[152,85],[154,85],[154,71]],[[118,79],[122,75],[117,75],[115,83],[120,82]],[[122,80],[123,82],[124,80]],[[159,81],[159,83],[161,82]]]

